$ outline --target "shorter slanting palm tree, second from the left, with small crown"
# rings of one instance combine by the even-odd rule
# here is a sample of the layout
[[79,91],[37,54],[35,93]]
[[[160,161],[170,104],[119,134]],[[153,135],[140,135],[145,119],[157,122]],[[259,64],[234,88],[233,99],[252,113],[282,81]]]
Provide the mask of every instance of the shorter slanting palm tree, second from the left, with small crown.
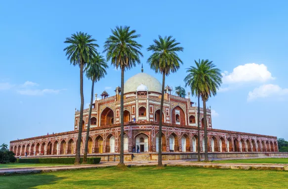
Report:
[[104,78],[107,74],[106,69],[108,65],[102,55],[96,53],[96,56],[93,57],[89,63],[87,64],[85,71],[88,79],[92,81],[91,88],[91,99],[90,99],[90,107],[89,107],[89,116],[88,116],[88,125],[86,132],[86,140],[85,140],[85,149],[83,156],[83,164],[87,163],[87,149],[88,149],[88,140],[89,140],[89,131],[90,131],[90,120],[91,120],[91,112],[92,112],[92,103],[93,103],[93,93],[94,93],[94,83],[99,81],[101,78]]

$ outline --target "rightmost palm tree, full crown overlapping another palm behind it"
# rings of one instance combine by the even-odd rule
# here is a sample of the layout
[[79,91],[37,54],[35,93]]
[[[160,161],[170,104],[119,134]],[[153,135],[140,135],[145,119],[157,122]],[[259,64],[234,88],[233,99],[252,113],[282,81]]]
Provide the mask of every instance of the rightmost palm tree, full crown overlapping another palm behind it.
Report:
[[[199,59],[199,62],[195,61],[195,63],[196,63],[196,67],[191,66],[189,69],[193,71],[192,75],[195,76],[195,79],[194,79],[195,83],[193,84],[192,91],[196,93],[198,92],[198,96],[200,95],[203,101],[205,161],[208,161],[206,101],[212,95],[215,96],[217,94],[217,89],[219,89],[220,85],[222,84],[222,75],[221,75],[220,69],[218,69],[216,65],[213,64],[213,62],[209,61],[208,59],[201,60],[201,61]],[[199,107],[199,102],[198,102],[198,110],[199,109],[200,107]],[[198,118],[200,118],[199,113],[198,113]],[[198,119],[198,126],[200,125],[199,122],[200,121]]]

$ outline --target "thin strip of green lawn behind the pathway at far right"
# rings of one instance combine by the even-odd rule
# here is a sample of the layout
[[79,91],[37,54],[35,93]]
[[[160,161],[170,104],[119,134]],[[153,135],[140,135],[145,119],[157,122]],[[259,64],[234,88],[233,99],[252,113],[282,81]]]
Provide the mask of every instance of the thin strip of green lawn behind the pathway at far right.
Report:
[[211,161],[215,163],[282,163],[288,164],[288,158],[231,159]]

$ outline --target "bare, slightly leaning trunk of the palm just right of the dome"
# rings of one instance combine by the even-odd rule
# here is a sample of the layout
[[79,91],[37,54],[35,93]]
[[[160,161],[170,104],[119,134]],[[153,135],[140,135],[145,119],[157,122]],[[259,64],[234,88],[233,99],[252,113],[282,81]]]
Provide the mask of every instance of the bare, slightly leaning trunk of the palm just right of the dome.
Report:
[[165,87],[165,73],[163,73],[163,79],[162,79],[162,95],[161,95],[160,116],[159,116],[158,167],[163,167],[163,164],[162,164],[162,114],[163,114],[163,104],[164,104],[164,87]]

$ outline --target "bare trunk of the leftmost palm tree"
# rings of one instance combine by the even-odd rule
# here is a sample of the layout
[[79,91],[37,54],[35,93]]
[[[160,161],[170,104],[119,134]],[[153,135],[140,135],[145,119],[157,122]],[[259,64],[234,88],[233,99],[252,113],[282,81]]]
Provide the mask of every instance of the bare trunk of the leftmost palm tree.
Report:
[[78,140],[76,148],[75,163],[80,164],[80,145],[81,145],[81,136],[82,136],[82,121],[83,121],[83,106],[84,106],[84,96],[83,96],[83,63],[80,62],[80,96],[81,96],[81,106],[80,106],[80,118],[78,126]]

